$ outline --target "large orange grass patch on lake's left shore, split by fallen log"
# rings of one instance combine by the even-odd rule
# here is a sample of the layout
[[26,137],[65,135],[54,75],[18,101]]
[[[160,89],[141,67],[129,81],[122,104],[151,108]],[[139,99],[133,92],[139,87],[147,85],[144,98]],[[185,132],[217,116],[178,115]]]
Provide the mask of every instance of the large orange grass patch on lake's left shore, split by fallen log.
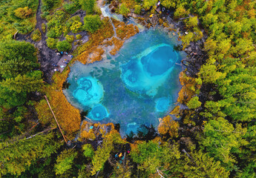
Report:
[[[65,131],[65,133],[70,134],[79,130],[81,117],[79,110],[70,105],[65,95],[62,93],[62,84],[65,82],[68,73],[69,70],[65,70],[63,73],[55,73],[53,76],[53,85],[48,86],[48,88],[45,90],[50,102],[50,106],[53,109],[59,125]],[[36,106],[36,111],[39,114],[39,120],[42,122],[42,124],[51,122],[56,126],[56,122],[53,119],[53,115],[50,112],[45,99],[39,102],[39,104]]]

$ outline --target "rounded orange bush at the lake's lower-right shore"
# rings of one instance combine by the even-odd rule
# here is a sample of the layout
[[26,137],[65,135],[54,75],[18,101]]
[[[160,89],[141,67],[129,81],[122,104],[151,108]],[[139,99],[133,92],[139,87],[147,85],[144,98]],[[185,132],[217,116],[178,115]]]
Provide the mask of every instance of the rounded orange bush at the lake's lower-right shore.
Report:
[[158,125],[157,130],[162,135],[168,133],[171,137],[177,137],[179,127],[179,123],[174,121],[171,116],[165,116],[160,120],[160,125]]

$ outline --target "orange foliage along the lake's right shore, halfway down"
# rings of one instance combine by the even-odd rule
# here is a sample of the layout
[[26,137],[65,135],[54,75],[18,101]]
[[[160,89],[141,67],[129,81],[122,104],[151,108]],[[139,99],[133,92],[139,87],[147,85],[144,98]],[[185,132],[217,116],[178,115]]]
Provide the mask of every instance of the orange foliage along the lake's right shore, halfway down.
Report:
[[197,85],[195,79],[186,76],[184,72],[180,73],[180,84],[183,85],[183,88],[179,92],[177,102],[186,104],[194,96],[196,90],[200,88],[200,85]]

